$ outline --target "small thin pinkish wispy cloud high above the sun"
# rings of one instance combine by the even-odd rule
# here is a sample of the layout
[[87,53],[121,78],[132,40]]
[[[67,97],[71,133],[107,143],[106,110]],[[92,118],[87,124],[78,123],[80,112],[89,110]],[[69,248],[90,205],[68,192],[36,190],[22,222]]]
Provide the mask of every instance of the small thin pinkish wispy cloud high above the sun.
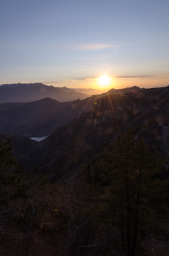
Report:
[[120,46],[114,46],[107,43],[83,43],[77,46],[72,46],[74,50],[100,50],[105,48],[117,48]]

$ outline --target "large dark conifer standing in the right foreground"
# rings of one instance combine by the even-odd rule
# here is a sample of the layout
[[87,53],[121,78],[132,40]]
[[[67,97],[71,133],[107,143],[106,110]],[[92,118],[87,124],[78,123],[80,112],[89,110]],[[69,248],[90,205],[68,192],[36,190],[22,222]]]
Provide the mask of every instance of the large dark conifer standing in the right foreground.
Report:
[[151,153],[143,138],[136,141],[132,129],[117,138],[111,153],[103,154],[91,174],[102,191],[98,206],[104,205],[105,223],[115,228],[123,255],[134,256],[141,240],[163,230],[167,191],[157,176],[165,170],[165,159]]

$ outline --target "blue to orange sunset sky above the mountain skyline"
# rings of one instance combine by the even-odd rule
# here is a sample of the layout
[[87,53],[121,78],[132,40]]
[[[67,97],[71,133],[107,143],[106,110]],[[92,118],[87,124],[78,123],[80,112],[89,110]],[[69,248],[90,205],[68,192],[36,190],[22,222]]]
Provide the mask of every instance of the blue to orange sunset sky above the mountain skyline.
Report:
[[169,85],[168,0],[1,0],[0,84]]

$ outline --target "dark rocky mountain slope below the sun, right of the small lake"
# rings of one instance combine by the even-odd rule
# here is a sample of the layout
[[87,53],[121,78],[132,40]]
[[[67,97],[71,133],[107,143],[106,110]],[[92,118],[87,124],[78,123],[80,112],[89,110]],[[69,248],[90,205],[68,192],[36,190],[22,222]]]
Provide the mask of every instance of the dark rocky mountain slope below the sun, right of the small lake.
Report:
[[[88,101],[91,103],[91,98]],[[131,126],[136,137],[143,135],[153,150],[168,154],[168,102],[169,87],[100,97],[89,112],[63,127],[57,127],[47,139],[31,147],[26,154],[28,166],[24,162],[26,170],[32,169],[35,174],[42,173],[53,182],[57,181],[102,149],[110,147],[117,135]],[[67,108],[70,109],[69,106]],[[72,107],[69,113],[73,110]],[[16,154],[14,148],[13,154]],[[23,154],[21,161],[18,153],[17,157],[21,163]]]

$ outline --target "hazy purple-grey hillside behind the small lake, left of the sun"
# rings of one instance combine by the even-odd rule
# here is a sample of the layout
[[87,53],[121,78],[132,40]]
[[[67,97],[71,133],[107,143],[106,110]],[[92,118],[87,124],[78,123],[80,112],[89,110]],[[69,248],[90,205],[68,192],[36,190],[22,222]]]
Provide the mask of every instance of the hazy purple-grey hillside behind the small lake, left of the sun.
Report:
[[[13,86],[9,85],[8,87]],[[66,95],[74,95],[71,89],[64,87],[64,90],[67,91]],[[43,137],[52,134],[57,127],[71,122],[83,112],[91,110],[93,103],[100,97],[139,90],[141,90],[139,87],[112,89],[101,95],[93,95],[71,102],[58,102],[46,97],[35,102],[0,104],[0,132],[11,132],[27,137]]]

